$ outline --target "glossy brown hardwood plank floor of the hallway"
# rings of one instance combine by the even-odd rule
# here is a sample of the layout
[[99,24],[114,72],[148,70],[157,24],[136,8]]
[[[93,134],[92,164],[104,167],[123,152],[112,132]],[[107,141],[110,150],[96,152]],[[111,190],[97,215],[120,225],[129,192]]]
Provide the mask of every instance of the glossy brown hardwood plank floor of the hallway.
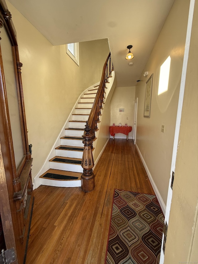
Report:
[[114,188],[155,194],[133,141],[110,139],[96,168],[95,188],[41,185],[26,264],[105,263]]

